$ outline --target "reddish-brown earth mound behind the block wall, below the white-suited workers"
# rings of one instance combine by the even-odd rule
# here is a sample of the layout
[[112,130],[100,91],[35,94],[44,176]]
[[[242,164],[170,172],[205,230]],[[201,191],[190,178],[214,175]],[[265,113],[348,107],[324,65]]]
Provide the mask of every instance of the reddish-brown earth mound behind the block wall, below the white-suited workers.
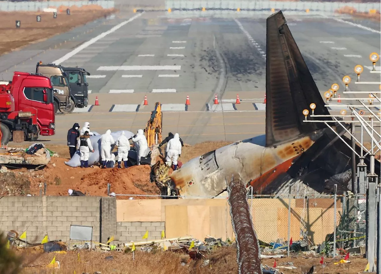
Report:
[[[231,142],[204,142],[194,146],[184,145],[180,161],[183,163],[203,155],[211,150],[223,147]],[[5,195],[40,195],[46,183],[46,195],[67,195],[67,190],[79,190],[86,195],[107,196],[107,183],[110,192],[130,195],[158,195],[159,189],[150,182],[149,166],[133,166],[127,169],[100,169],[69,167],[65,161],[69,158],[66,145],[47,145],[47,148],[58,153],[58,158],[41,170],[7,169],[0,170],[0,196]],[[117,199],[128,199],[131,196],[117,196]],[[155,199],[156,197],[133,196],[134,199]]]

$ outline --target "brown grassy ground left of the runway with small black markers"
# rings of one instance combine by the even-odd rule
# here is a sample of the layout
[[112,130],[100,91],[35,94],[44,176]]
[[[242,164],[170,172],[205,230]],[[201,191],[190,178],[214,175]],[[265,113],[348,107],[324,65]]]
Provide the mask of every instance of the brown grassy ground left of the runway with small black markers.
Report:
[[[70,15],[66,14],[70,8]],[[45,40],[53,35],[94,21],[97,18],[114,13],[114,10],[104,10],[98,5],[60,6],[57,18],[53,13],[40,12],[0,12],[0,54],[21,48],[35,41]],[[41,16],[37,22],[36,16]],[[20,28],[16,28],[16,20],[20,21]]]

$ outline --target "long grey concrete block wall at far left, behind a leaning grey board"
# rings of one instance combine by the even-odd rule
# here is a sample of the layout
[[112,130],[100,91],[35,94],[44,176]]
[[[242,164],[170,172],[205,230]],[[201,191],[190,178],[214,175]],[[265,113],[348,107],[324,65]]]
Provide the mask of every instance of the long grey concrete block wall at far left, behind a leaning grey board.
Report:
[[[100,236],[100,197],[42,196],[0,199],[0,231],[27,231],[28,242],[69,241],[70,225],[93,227],[93,241]],[[116,222],[116,218],[115,218]]]

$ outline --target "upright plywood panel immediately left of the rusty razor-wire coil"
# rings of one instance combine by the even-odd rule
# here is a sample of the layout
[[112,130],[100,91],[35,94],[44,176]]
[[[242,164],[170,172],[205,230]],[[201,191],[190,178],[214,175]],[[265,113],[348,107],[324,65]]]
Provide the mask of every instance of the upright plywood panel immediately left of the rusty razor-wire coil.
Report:
[[210,236],[225,241],[233,238],[232,221],[229,207],[211,206],[210,207]]

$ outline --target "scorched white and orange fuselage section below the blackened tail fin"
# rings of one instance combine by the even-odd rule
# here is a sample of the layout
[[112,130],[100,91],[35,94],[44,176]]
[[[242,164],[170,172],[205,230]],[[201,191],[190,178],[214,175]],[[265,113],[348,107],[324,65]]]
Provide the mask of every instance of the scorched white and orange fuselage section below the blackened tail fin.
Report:
[[265,147],[265,135],[232,143],[190,160],[174,171],[171,179],[181,196],[216,196],[226,190],[232,175],[239,175],[261,193],[287,172],[316,137],[313,134],[274,147]]

